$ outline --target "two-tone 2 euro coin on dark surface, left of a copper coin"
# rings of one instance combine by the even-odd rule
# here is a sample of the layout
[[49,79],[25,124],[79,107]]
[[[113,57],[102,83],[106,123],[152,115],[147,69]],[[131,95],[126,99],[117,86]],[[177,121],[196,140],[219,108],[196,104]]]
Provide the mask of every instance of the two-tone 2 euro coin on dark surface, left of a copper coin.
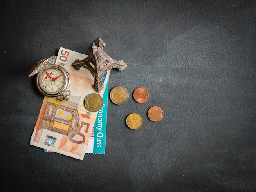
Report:
[[114,87],[110,92],[110,99],[117,105],[126,103],[129,98],[129,92],[122,86]]

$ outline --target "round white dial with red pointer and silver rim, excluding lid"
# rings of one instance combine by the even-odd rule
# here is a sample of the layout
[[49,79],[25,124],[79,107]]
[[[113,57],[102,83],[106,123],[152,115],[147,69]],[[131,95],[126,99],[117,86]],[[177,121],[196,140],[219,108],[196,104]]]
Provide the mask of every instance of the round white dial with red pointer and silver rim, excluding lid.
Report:
[[57,97],[69,86],[67,71],[56,65],[44,69],[37,78],[38,89],[45,96]]

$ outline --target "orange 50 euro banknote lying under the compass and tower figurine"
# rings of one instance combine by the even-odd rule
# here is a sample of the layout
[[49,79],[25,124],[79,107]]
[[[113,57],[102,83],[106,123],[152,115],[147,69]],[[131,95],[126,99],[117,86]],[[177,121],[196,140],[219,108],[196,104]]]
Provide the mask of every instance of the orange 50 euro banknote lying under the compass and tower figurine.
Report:
[[[44,97],[30,145],[83,160],[98,114],[86,109],[84,100],[88,94],[96,92],[92,74],[85,68],[77,71],[72,63],[86,57],[63,47],[59,49],[54,64],[61,65],[69,72],[70,97],[68,101]],[[104,89],[98,93],[101,96],[105,92],[109,74],[110,70],[103,77]]]

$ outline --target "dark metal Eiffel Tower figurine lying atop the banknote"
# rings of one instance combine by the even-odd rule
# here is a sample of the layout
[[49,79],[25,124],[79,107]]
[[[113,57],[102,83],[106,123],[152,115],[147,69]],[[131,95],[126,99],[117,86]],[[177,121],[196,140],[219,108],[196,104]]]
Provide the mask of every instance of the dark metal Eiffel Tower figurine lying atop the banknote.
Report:
[[76,70],[84,67],[90,71],[94,77],[93,88],[97,92],[100,92],[104,88],[102,78],[109,69],[117,68],[119,71],[123,71],[124,68],[127,67],[123,60],[114,60],[108,56],[103,50],[105,45],[106,43],[101,38],[97,39],[93,43],[92,49],[90,49],[91,53],[88,57],[83,60],[77,59],[74,61],[74,63],[72,63],[72,66]]

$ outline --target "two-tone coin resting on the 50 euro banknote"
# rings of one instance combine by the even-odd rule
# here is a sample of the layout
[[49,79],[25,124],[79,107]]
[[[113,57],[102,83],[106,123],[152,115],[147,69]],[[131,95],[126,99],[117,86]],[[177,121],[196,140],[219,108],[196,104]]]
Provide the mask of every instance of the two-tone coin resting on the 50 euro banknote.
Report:
[[85,107],[91,112],[97,112],[103,105],[102,97],[97,93],[89,94],[85,97]]

